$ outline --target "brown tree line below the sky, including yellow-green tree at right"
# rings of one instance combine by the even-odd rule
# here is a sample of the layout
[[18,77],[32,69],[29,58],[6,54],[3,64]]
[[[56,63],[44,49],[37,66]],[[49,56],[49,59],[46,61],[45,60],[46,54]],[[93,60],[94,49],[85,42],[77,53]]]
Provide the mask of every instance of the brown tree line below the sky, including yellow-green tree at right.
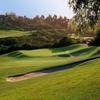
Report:
[[[15,13],[6,13],[5,15],[0,15],[0,30],[22,30],[22,31],[33,31],[33,30],[41,30],[41,29],[61,29],[65,30],[68,34],[76,33],[78,25],[78,21],[72,19],[68,19],[67,17],[58,17],[57,15],[49,15],[45,17],[44,15],[36,16],[34,18],[28,18],[26,16],[16,16]],[[99,21],[97,22],[99,23]],[[99,24],[98,24],[99,25]],[[100,26],[100,25],[99,25]],[[99,27],[96,26],[96,27]],[[95,31],[89,31],[89,25],[86,29],[86,33],[91,34]]]

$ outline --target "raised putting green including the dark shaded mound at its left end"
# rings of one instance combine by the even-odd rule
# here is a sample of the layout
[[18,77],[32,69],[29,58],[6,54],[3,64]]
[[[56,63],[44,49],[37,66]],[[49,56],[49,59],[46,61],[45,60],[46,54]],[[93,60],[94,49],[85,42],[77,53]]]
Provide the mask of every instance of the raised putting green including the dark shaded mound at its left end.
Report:
[[[62,47],[62,48],[54,48],[54,49],[38,49],[38,50],[20,50],[20,51],[15,51],[12,53],[7,54],[8,56],[21,56],[23,55],[26,57],[45,57],[45,56],[57,56],[57,55],[62,55],[62,54],[71,54],[73,52],[77,52],[78,50],[83,50],[87,48],[87,46],[81,46],[80,44],[74,44],[71,46],[67,47]],[[87,48],[88,49],[88,48]]]

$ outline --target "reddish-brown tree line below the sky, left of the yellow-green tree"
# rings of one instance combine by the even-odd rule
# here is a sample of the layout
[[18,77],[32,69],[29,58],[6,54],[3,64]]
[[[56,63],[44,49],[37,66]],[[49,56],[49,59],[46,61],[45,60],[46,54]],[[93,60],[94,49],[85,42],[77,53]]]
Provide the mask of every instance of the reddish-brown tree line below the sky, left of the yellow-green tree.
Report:
[[26,16],[16,16],[15,13],[0,15],[0,29],[68,29],[69,19],[67,17],[57,17],[57,15],[44,15],[28,18]]

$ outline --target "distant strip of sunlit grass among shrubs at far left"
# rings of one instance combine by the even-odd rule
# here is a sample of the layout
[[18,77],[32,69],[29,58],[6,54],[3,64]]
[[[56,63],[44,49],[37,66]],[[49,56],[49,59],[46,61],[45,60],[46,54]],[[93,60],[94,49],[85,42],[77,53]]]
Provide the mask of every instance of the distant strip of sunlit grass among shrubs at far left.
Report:
[[29,35],[29,32],[17,31],[17,30],[0,30],[0,38],[18,37],[23,35]]

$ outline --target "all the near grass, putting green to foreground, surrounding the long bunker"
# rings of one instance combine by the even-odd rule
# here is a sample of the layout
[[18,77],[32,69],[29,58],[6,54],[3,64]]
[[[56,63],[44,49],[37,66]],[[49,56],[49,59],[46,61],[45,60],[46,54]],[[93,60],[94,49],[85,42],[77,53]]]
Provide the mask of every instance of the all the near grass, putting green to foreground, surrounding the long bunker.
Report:
[[[100,59],[63,70],[10,83],[5,78],[84,60],[100,52],[98,47],[20,50],[0,56],[0,100],[100,100]],[[81,54],[80,54],[81,53]],[[69,54],[71,56],[61,56]],[[60,56],[59,56],[60,55]]]

